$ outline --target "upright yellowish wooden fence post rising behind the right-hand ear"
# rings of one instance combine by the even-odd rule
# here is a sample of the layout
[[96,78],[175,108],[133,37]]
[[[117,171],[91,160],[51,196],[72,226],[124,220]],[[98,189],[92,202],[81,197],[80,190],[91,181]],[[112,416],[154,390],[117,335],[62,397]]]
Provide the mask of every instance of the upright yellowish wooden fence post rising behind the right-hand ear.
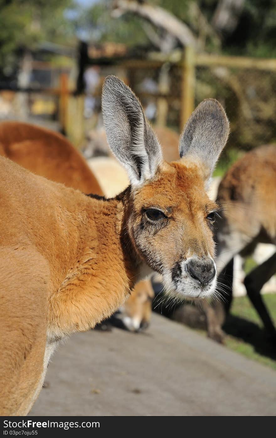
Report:
[[182,70],[180,132],[195,107],[195,53],[192,47],[186,47]]

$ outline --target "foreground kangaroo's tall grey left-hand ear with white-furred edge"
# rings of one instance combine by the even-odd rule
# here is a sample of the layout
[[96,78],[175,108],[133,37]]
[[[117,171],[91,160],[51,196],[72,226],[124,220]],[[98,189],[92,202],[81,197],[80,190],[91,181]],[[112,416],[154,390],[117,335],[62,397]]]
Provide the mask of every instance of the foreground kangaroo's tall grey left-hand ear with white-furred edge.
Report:
[[162,150],[134,93],[120,79],[108,76],[101,108],[108,144],[126,168],[130,183],[137,186],[153,178],[162,161]]

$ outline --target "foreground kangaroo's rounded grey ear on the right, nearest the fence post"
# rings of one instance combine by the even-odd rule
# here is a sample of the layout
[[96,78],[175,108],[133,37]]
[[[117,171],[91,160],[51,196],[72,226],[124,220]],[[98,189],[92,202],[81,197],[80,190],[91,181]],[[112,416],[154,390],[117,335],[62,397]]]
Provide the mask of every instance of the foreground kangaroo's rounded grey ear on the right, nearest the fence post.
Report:
[[229,121],[223,107],[215,99],[206,99],[185,125],[179,144],[180,156],[199,160],[213,171],[228,135]]

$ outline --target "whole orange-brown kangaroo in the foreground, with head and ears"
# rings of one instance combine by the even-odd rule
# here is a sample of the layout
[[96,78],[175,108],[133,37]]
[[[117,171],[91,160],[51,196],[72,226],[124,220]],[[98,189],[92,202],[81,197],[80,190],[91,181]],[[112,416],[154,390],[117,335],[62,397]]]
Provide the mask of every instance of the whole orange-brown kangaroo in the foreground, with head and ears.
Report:
[[90,198],[0,158],[0,413],[27,414],[60,339],[112,314],[152,270],[178,297],[216,289],[206,185],[224,147],[224,109],[203,101],[164,162],[140,102],[105,80],[108,143],[129,173],[114,199]]

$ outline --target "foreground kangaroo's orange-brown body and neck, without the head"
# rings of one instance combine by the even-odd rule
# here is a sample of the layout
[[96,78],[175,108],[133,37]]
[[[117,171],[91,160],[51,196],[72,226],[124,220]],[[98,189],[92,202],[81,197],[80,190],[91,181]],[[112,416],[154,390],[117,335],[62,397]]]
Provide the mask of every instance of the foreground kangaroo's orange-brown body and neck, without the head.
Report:
[[[126,267],[120,244],[122,201],[105,204],[105,201],[88,198],[35,176],[5,158],[0,159],[0,168],[1,236],[5,254],[1,259],[1,281],[2,284],[3,279],[7,282],[2,288],[2,333],[7,332],[7,309],[14,309],[16,302],[18,310],[18,315],[14,314],[11,321],[7,319],[7,324],[14,325],[14,330],[8,344],[1,348],[2,352],[8,350],[15,354],[18,365],[14,364],[13,357],[8,364],[3,359],[0,361],[1,393],[5,389],[9,394],[1,398],[0,412],[22,414],[29,410],[26,400],[35,392],[35,382],[41,376],[37,370],[42,370],[43,366],[43,356],[39,359],[39,354],[36,355],[36,367],[33,366],[34,358],[28,354],[28,345],[37,343],[38,351],[44,351],[47,330],[49,339],[55,340],[87,330],[108,317],[125,300],[133,286],[130,279],[135,276],[136,268],[134,262],[133,269],[130,263],[129,268]],[[100,259],[98,251],[101,251]],[[14,254],[20,254],[18,260]],[[99,278],[99,272],[111,275]],[[31,308],[34,315],[30,323]],[[22,329],[25,318],[32,330]],[[16,322],[12,323],[13,319]],[[21,346],[22,353],[16,350],[16,345]],[[21,364],[29,371],[22,379]],[[14,386],[10,376],[14,376],[17,366],[20,374],[18,385]]]

